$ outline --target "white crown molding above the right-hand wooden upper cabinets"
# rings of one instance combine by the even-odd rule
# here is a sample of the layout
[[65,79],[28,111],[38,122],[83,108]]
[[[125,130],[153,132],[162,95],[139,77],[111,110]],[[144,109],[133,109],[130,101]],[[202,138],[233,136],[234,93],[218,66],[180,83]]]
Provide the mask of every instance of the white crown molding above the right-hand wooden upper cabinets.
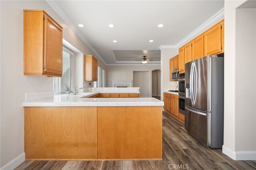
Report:
[[201,24],[198,28],[196,28],[194,31],[192,31],[190,34],[188,34],[185,38],[183,38],[180,42],[178,42],[176,45],[174,45],[176,48],[181,47],[182,45],[188,43],[190,40],[201,34],[203,31],[205,31],[209,26],[214,24],[216,21],[219,21],[220,19],[224,18],[224,7],[221,8],[216,14],[211,16],[208,20],[206,20],[203,24]]

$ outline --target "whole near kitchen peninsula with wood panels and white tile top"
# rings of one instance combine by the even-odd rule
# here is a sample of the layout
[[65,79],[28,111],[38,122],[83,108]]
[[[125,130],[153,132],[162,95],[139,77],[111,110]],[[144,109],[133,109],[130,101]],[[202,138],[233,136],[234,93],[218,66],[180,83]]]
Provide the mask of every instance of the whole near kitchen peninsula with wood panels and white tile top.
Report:
[[26,94],[26,159],[162,159],[162,101],[87,98],[92,93],[99,92],[34,101]]

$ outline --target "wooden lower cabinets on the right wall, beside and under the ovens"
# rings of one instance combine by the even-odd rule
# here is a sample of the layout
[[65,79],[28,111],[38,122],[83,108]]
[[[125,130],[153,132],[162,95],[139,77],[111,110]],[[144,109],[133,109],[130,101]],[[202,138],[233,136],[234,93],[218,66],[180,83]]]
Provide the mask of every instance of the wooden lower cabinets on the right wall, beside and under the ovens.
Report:
[[[170,96],[170,100],[168,100],[168,96]],[[182,113],[179,113],[179,96],[164,93],[164,111],[167,112],[172,117],[178,119],[182,123],[184,123],[185,117]]]

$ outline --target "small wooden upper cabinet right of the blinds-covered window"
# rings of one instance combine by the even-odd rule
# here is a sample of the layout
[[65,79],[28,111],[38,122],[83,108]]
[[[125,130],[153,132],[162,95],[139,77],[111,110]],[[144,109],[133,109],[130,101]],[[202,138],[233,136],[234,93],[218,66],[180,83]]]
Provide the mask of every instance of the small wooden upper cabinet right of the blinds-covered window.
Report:
[[92,55],[84,55],[84,80],[97,81],[98,60]]

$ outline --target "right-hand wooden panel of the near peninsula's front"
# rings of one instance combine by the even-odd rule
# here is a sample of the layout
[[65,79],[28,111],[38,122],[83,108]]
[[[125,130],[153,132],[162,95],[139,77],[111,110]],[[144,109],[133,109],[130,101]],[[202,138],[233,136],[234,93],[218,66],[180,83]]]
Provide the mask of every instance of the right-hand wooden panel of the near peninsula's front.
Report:
[[98,107],[98,159],[162,158],[162,107]]

